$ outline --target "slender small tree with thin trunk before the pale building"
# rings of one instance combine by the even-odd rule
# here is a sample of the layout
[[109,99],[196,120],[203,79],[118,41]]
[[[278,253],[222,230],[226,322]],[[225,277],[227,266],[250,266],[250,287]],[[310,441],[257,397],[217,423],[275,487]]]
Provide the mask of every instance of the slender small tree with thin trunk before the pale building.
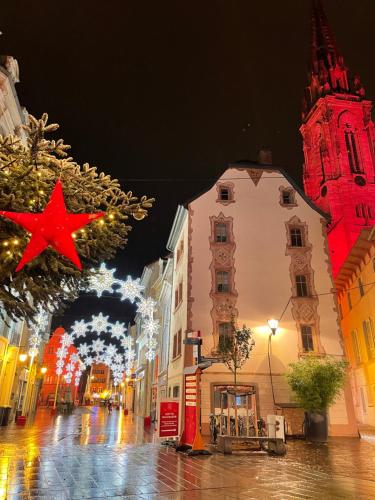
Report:
[[[236,422],[236,435],[238,435],[238,418],[237,418],[237,372],[249,359],[250,353],[253,350],[255,341],[253,332],[246,325],[241,329],[236,328],[234,317],[231,320],[231,329],[227,335],[219,337],[219,344],[216,350],[216,355],[223,360],[229,370],[233,373],[234,378],[234,418]],[[228,422],[229,429],[229,422]]]

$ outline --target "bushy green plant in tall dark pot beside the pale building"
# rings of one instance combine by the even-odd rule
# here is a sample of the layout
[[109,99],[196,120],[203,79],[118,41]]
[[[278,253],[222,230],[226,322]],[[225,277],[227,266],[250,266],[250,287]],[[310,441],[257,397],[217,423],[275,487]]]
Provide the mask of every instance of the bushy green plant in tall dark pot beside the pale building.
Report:
[[305,410],[305,438],[327,441],[328,409],[343,389],[347,362],[330,357],[306,356],[291,363],[287,381]]

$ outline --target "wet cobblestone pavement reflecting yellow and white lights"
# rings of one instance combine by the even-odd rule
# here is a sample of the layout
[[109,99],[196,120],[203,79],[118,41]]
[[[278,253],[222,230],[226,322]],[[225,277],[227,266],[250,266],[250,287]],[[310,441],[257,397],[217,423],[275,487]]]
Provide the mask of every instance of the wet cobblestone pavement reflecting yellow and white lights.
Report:
[[287,446],[285,457],[187,457],[121,412],[40,411],[30,427],[0,430],[0,499],[375,498],[373,441]]

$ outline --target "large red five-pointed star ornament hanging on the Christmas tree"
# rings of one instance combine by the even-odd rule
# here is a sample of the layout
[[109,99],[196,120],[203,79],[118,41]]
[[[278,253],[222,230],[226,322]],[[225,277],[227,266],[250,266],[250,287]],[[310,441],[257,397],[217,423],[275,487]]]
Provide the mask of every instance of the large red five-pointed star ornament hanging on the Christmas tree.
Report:
[[25,264],[35,259],[48,246],[71,260],[81,271],[82,264],[74,245],[72,233],[93,220],[103,217],[104,212],[96,214],[68,213],[59,179],[42,213],[18,213],[1,210],[0,215],[14,221],[32,234],[16,271],[20,271]]

